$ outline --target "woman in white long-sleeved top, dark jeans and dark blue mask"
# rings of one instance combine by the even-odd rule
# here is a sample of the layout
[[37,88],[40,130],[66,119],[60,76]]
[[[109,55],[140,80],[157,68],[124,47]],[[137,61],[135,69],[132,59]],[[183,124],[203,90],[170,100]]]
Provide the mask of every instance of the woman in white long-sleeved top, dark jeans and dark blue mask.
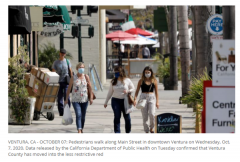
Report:
[[125,131],[126,133],[131,132],[131,117],[130,114],[126,114],[124,109],[124,97],[127,93],[131,93],[134,90],[134,85],[132,81],[126,77],[124,69],[121,67],[116,67],[114,69],[115,77],[112,79],[110,88],[104,107],[107,107],[109,99],[112,97],[112,109],[114,113],[114,132],[121,133],[120,130],[120,118],[121,112],[125,119]]

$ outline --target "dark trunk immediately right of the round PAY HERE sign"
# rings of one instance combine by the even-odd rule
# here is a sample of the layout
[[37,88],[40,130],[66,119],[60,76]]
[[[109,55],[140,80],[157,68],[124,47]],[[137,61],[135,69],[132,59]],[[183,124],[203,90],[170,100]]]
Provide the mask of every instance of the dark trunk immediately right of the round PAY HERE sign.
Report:
[[235,6],[223,6],[223,39],[235,39]]

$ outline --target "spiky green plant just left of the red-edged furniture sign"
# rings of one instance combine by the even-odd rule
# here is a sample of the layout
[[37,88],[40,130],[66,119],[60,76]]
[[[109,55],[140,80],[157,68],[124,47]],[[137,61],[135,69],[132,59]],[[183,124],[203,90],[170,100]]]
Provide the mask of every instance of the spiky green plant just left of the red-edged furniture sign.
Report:
[[194,115],[196,115],[196,133],[201,133],[201,112],[203,109],[203,81],[205,80],[212,80],[211,77],[208,75],[206,68],[203,74],[198,75],[197,78],[192,79],[188,94],[182,98],[183,104],[193,105],[193,111],[195,112]]

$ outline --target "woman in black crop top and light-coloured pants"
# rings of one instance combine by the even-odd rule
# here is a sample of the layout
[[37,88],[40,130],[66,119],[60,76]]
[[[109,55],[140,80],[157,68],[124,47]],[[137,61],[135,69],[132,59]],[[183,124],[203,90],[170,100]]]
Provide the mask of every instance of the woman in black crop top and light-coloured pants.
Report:
[[[136,98],[138,96],[138,92],[140,88],[142,89],[142,94],[140,96],[140,99],[147,99],[145,108],[141,109],[144,131],[148,133],[150,130],[151,133],[154,133],[153,128],[155,123],[155,120],[154,120],[155,107],[159,108],[158,84],[157,84],[156,78],[153,75],[153,71],[149,66],[144,68],[142,73],[142,78],[138,81],[137,90],[134,96],[135,106],[136,106]],[[150,126],[148,125],[148,116],[150,118]]]

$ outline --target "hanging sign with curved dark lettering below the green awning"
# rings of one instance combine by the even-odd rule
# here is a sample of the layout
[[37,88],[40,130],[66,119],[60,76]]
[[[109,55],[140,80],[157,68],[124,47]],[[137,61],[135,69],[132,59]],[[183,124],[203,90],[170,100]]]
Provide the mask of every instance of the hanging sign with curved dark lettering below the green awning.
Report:
[[61,23],[57,25],[47,24],[45,27],[43,27],[43,31],[38,32],[39,35],[45,37],[54,37],[61,33],[63,33],[63,25]]

